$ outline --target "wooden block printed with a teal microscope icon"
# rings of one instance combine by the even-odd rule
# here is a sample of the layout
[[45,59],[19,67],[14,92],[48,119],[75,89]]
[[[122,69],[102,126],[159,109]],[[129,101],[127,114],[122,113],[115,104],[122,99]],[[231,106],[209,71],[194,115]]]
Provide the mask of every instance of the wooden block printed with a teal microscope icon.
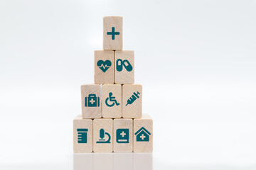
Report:
[[113,120],[107,118],[93,120],[93,152],[113,151]]

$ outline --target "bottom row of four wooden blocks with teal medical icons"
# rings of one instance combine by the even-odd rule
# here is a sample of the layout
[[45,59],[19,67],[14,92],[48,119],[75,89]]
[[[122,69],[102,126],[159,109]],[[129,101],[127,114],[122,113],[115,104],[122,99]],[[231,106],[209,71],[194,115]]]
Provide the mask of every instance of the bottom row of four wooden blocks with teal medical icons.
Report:
[[153,120],[149,115],[136,119],[82,119],[73,120],[73,150],[90,152],[137,152],[153,150]]

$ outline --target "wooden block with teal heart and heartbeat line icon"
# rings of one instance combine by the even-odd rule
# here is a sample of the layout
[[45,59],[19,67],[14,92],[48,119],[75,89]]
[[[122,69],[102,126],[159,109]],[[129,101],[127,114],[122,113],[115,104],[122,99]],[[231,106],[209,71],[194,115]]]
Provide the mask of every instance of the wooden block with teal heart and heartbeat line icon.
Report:
[[95,84],[114,84],[114,51],[95,51]]

